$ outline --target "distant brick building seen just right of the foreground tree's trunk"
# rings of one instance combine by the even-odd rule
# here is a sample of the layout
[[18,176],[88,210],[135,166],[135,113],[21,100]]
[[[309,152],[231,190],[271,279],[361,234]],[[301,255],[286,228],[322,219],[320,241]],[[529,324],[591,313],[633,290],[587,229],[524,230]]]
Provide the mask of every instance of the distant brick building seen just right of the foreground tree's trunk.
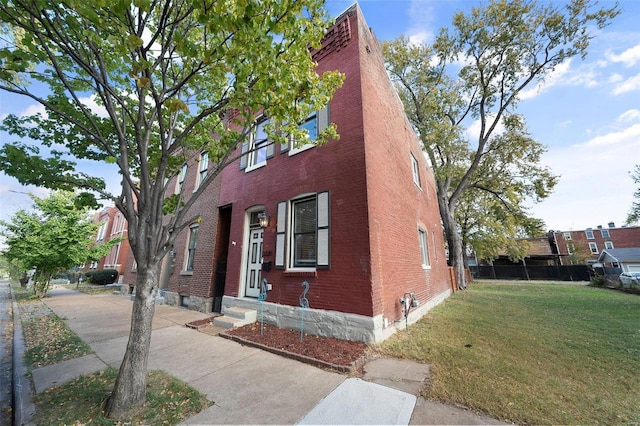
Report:
[[100,227],[96,233],[96,244],[105,244],[116,238],[122,238],[122,241],[111,247],[111,251],[97,262],[91,262],[83,268],[85,271],[94,271],[100,269],[116,269],[118,271],[118,280],[122,282],[126,271],[131,249],[129,240],[127,239],[127,221],[122,213],[116,207],[105,207],[97,212],[93,218],[94,223],[99,223]]

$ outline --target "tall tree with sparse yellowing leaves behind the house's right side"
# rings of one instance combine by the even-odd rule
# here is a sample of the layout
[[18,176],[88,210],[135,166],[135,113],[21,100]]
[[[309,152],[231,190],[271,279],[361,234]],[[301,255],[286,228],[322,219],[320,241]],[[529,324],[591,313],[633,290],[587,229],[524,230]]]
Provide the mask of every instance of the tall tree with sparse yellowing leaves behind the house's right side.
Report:
[[525,88],[564,61],[584,58],[593,28],[618,14],[617,6],[593,9],[588,0],[494,0],[456,13],[431,46],[405,37],[383,46],[387,70],[434,169],[461,289],[466,278],[456,212],[467,191],[495,198],[494,206],[509,214],[516,207],[522,212],[525,200],[545,198],[556,183],[539,163],[543,145],[527,133],[516,107]]

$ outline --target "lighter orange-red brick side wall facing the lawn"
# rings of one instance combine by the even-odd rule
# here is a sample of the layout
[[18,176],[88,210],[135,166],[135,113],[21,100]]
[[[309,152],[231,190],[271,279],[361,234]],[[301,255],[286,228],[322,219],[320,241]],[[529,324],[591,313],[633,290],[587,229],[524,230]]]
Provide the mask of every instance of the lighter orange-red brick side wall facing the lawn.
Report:
[[[374,311],[398,320],[405,292],[425,303],[450,288],[449,275],[433,175],[364,19],[358,31]],[[414,183],[412,156],[419,164],[420,187]],[[418,228],[427,233],[430,269],[422,267]]]

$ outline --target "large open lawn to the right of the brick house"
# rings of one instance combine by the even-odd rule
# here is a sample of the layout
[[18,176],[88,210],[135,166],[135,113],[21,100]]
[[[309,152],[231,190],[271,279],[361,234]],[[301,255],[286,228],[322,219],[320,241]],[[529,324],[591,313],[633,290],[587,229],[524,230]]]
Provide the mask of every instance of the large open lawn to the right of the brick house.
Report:
[[425,396],[518,424],[638,424],[640,297],[474,283],[380,346],[431,363]]

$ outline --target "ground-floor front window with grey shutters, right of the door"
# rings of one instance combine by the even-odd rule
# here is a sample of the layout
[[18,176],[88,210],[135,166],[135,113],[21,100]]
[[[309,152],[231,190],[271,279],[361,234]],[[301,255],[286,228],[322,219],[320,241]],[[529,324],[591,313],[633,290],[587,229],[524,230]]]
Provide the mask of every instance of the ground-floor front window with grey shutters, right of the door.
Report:
[[275,266],[287,270],[329,268],[329,193],[278,203]]

